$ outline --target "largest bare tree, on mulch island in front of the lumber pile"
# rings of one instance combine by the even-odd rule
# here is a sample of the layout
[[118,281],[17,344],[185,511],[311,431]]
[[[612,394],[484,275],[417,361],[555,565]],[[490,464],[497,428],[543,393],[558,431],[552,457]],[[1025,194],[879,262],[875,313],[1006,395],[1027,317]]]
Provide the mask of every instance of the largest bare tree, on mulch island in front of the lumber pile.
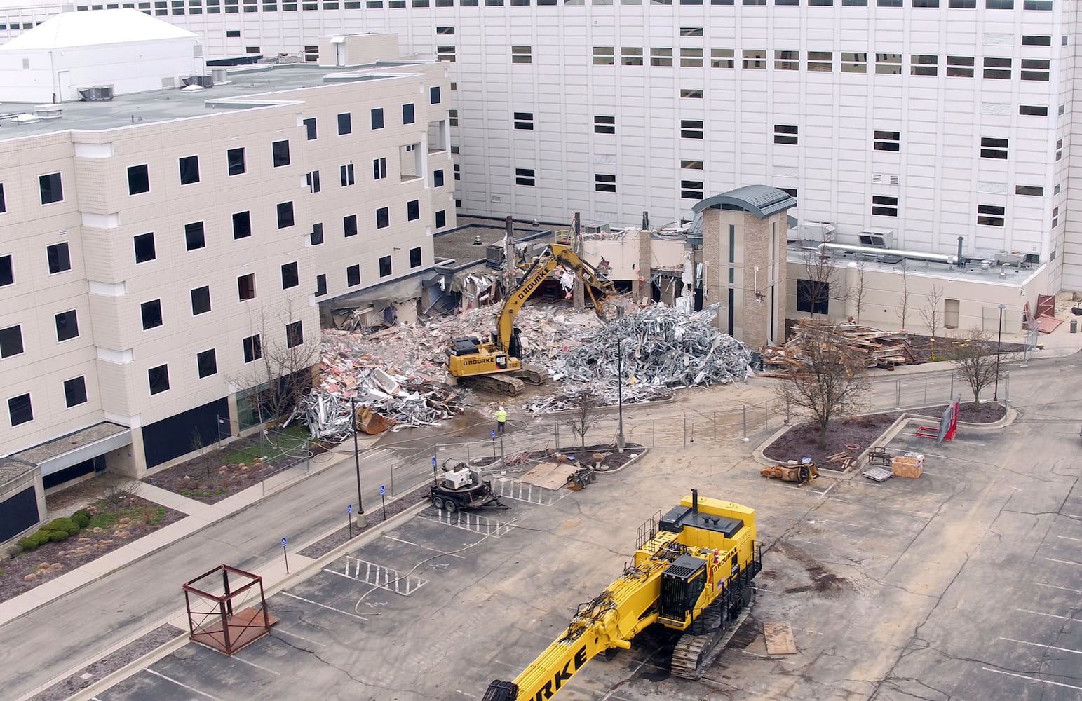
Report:
[[835,416],[867,406],[868,375],[858,354],[831,333],[829,327],[804,329],[795,344],[801,367],[778,385],[779,401],[805,410],[819,424],[819,445]]

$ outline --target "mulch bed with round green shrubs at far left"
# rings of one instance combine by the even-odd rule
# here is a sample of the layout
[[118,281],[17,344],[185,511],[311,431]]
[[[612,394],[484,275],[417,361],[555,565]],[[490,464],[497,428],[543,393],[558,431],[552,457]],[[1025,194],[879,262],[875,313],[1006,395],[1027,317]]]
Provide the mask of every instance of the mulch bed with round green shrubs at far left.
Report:
[[0,559],[0,601],[97,559],[105,553],[184,518],[141,497],[128,497],[123,506],[100,501],[88,507],[89,527],[67,540],[45,543],[11,559]]

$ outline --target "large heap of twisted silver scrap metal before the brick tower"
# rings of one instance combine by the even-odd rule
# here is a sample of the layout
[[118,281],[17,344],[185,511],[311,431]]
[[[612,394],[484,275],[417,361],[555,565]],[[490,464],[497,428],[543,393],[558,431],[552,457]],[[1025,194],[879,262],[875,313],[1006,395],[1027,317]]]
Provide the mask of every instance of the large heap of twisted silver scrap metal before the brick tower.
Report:
[[[649,401],[673,389],[747,380],[751,350],[714,328],[718,305],[687,315],[654,305],[629,314],[593,332],[547,363],[550,374],[568,385],[555,397],[526,402],[531,413],[564,411],[592,395],[603,405],[617,404],[617,353],[622,347],[623,400]],[[621,346],[622,341],[622,346]]]

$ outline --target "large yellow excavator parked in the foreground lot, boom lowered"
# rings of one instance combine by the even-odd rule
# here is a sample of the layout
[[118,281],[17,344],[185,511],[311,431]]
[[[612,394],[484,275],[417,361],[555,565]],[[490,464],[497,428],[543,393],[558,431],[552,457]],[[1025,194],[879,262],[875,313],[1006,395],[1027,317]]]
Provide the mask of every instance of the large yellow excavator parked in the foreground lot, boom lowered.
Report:
[[484,701],[553,698],[593,657],[630,649],[654,624],[682,631],[672,673],[695,679],[721,652],[720,643],[752,601],[763,568],[755,511],[697,490],[639,529],[623,576],[580,604],[571,624],[514,682],[492,682]]

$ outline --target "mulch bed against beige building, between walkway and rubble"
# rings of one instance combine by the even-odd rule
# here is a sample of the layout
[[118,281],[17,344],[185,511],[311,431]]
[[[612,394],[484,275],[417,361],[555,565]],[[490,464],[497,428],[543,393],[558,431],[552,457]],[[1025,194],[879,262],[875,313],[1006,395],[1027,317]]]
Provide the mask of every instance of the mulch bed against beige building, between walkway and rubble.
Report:
[[[279,437],[280,434],[276,440]],[[305,458],[300,457],[302,451],[308,450],[312,455],[327,452],[327,449],[317,442],[305,447],[307,439],[303,436],[288,436],[282,439],[295,444],[287,447],[285,454],[280,447],[261,444],[256,434],[206,455],[156,472],[144,477],[143,481],[204,504],[214,504],[260,484],[281,469],[303,462]],[[279,446],[281,446],[280,440]]]

